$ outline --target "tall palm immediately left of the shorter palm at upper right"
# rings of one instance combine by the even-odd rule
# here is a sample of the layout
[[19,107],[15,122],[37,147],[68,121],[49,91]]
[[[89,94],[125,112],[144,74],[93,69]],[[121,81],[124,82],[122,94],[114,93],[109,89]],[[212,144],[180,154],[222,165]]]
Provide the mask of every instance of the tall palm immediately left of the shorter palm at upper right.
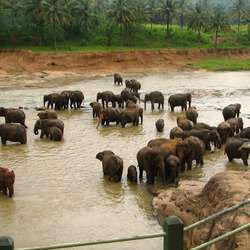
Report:
[[206,15],[205,11],[201,6],[201,3],[198,2],[190,10],[187,16],[187,27],[188,30],[195,30],[198,32],[198,44],[199,48],[201,47],[201,30],[206,27]]

